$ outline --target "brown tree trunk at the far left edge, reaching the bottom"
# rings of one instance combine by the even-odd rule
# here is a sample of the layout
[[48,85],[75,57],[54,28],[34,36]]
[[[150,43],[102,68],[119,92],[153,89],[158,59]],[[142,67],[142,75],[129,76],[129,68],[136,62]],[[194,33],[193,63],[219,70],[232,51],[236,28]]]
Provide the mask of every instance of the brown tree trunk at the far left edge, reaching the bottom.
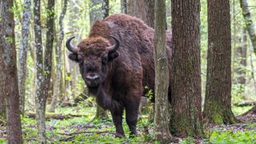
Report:
[[18,77],[14,34],[13,0],[2,1],[0,31],[0,64],[3,73],[2,94],[6,99],[8,143],[22,143],[22,125],[19,111]]

